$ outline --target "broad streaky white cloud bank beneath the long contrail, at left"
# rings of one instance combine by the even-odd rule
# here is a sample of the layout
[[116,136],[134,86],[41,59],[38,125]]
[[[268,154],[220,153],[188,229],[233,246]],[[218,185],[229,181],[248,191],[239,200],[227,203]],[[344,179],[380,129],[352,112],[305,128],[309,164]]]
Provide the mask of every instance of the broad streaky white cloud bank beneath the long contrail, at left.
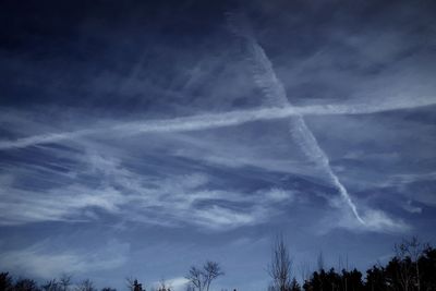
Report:
[[94,221],[110,215],[125,222],[229,230],[266,222],[275,203],[292,202],[289,192],[277,187],[261,189],[253,198],[243,191],[213,186],[211,177],[202,172],[144,175],[96,153],[87,153],[82,162],[80,175],[61,186],[24,190],[13,179],[2,179],[1,225]]

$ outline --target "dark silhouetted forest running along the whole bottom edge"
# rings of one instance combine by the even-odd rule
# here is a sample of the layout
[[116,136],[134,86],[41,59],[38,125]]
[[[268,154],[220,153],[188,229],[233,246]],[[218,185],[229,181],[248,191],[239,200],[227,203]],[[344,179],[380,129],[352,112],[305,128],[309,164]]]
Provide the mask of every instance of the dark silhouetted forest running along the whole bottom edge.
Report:
[[[316,270],[303,274],[302,282],[295,279],[295,271],[289,250],[282,238],[272,246],[268,275],[271,284],[268,291],[436,291],[436,248],[421,243],[416,238],[395,245],[395,255],[385,265],[377,264],[365,274],[360,270],[335,268],[325,269],[322,257]],[[211,281],[223,276],[220,265],[206,262],[204,266],[192,266],[185,278],[189,291],[208,291]],[[215,290],[219,288],[215,288]],[[89,279],[73,283],[71,276],[63,275],[43,283],[13,277],[8,271],[0,274],[0,291],[97,291]],[[101,291],[114,291],[110,287]],[[162,281],[159,287],[143,288],[136,279],[126,279],[125,290],[130,291],[171,291]],[[235,289],[237,290],[237,289]]]

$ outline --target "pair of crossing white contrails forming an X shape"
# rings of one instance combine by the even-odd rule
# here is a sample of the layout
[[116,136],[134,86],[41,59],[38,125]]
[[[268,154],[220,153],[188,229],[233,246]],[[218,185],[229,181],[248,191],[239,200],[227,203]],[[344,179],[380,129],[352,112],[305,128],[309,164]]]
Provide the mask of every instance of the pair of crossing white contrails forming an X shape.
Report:
[[[249,22],[241,13],[229,14],[230,26],[246,45],[247,52],[252,60],[253,77],[257,86],[263,90],[268,106],[267,108],[252,110],[237,110],[221,113],[206,113],[193,117],[173,118],[166,120],[148,120],[138,122],[125,122],[108,128],[94,128],[60,133],[48,133],[14,141],[0,141],[0,149],[24,148],[38,144],[57,143],[64,140],[74,140],[83,136],[111,133],[117,136],[134,135],[142,133],[166,133],[184,132],[216,129],[223,126],[239,125],[246,122],[290,119],[290,133],[299,144],[301,150],[317,167],[324,170],[327,178],[335,185],[342,198],[351,208],[355,218],[361,222],[365,221],[358,213],[347,189],[339,181],[329,165],[329,158],[319,147],[316,137],[306,125],[303,116],[319,114],[366,114],[405,108],[435,105],[436,100],[431,97],[419,99],[402,99],[377,105],[354,104],[354,105],[324,105],[295,107],[289,102],[282,83],[278,80],[272,64],[267,58],[264,49],[259,46],[254,34],[250,29]],[[113,136],[113,135],[112,135]]]

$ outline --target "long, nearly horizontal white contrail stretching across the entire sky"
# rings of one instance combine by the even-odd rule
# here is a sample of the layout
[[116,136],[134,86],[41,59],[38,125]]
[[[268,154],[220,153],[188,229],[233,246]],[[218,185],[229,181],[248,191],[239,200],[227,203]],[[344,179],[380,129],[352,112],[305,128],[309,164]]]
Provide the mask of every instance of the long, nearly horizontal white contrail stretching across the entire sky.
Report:
[[[14,141],[0,141],[0,150],[12,149],[12,148],[24,148],[38,144],[56,143],[64,140],[73,140],[76,137],[96,135],[108,132],[114,132],[121,135],[134,135],[134,134],[153,133],[153,132],[165,133],[165,132],[199,131],[207,129],[240,125],[253,121],[275,120],[275,119],[284,119],[293,117],[296,118],[295,124],[299,124],[299,122],[301,122],[299,120],[301,119],[302,116],[371,114],[383,111],[429,106],[435,104],[436,104],[435,99],[420,98],[413,101],[404,100],[401,102],[398,101],[393,104],[384,102],[372,106],[364,104],[315,105],[315,106],[303,106],[303,107],[294,107],[287,105],[284,107],[237,110],[222,113],[208,113],[208,114],[166,119],[166,120],[125,122],[119,125],[108,126],[108,128],[95,128],[88,130],[40,134],[40,135],[17,138]],[[313,143],[310,143],[310,145],[311,144]]]

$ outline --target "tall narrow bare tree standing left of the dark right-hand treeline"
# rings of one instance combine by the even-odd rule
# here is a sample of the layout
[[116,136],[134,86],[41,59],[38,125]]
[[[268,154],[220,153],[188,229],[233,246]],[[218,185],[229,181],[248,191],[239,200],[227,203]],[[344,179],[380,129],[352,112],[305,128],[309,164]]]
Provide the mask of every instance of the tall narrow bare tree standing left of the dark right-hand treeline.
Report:
[[275,291],[288,291],[291,287],[292,259],[282,235],[277,237],[272,246],[271,264],[268,266],[268,274],[272,279]]

